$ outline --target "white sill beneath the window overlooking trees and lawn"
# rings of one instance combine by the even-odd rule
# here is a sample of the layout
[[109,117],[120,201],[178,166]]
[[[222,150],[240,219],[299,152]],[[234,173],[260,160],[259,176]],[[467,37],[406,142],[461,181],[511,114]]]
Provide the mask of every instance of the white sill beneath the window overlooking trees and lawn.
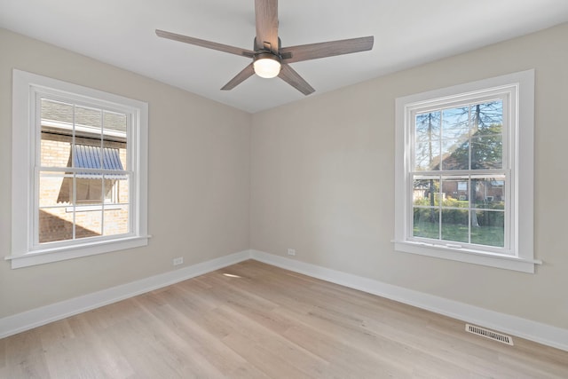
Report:
[[521,257],[503,256],[477,252],[468,249],[455,249],[448,246],[430,245],[412,241],[393,241],[394,249],[404,253],[418,254],[465,262],[473,265],[485,265],[506,270],[534,273],[534,265],[542,265],[542,261]]

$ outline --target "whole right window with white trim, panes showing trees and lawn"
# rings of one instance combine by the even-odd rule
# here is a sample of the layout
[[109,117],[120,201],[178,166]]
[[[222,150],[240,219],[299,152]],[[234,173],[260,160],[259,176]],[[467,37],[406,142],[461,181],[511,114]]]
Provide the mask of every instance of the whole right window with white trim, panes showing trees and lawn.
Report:
[[525,71],[399,98],[395,249],[534,272]]

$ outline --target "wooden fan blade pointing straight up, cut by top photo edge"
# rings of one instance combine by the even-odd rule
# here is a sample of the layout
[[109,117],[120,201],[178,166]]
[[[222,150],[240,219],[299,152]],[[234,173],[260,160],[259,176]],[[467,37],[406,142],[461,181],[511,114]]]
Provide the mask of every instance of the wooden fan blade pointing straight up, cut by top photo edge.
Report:
[[278,0],[255,0],[256,46],[278,52]]

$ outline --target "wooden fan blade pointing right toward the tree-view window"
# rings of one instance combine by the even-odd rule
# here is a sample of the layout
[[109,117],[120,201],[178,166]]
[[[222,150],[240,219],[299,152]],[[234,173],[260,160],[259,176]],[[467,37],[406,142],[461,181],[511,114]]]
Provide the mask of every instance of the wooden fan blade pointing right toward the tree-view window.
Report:
[[339,41],[302,44],[282,48],[280,49],[280,55],[286,63],[333,57],[335,55],[371,50],[373,49],[374,40],[373,36],[367,36]]

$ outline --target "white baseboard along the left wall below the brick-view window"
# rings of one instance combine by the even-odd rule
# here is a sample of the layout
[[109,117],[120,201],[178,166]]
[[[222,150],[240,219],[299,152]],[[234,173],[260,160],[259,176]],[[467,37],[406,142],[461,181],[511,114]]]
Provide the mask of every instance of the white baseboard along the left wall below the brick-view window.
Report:
[[149,278],[136,280],[113,288],[103,289],[89,295],[75,297],[59,303],[46,305],[27,312],[21,312],[0,319],[0,338],[41,327],[50,322],[62,320],[78,313],[91,311],[103,305],[116,303],[132,296],[144,294],[157,288],[170,286],[182,280],[212,272],[228,265],[250,259],[250,250],[212,259],[201,264],[164,272]]

